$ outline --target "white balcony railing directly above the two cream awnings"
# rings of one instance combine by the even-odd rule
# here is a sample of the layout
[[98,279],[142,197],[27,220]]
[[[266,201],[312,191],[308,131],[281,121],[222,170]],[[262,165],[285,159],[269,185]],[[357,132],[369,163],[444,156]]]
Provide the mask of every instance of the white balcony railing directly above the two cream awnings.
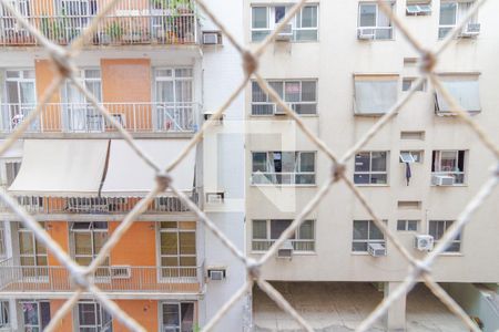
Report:
[[[196,103],[102,103],[129,132],[185,133],[197,129]],[[3,133],[10,133],[33,112],[34,104],[0,104]],[[28,132],[110,133],[116,128],[89,103],[49,103]]]

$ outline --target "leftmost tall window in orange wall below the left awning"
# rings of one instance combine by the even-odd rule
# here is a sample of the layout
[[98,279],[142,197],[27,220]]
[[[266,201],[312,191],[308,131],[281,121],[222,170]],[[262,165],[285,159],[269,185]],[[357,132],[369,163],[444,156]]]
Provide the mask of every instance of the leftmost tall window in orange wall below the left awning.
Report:
[[[39,221],[44,227],[43,221]],[[26,278],[40,278],[48,276],[47,249],[34,237],[33,232],[18,222],[19,260],[22,276]]]

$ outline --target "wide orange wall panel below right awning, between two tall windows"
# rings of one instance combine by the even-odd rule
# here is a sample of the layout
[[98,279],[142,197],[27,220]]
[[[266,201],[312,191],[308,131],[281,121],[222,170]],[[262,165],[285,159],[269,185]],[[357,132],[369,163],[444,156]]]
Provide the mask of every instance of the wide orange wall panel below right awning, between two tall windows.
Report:
[[[110,234],[120,225],[110,222]],[[111,250],[111,264],[113,266],[156,266],[156,232],[154,222],[134,222],[124,234],[118,245]]]

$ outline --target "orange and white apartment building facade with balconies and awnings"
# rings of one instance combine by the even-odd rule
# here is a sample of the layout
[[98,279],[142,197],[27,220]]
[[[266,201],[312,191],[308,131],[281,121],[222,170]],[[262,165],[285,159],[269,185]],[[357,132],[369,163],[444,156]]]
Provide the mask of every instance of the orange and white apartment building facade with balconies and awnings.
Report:
[[[105,1],[11,3],[50,40],[68,45]],[[210,1],[208,6],[243,40],[242,3]],[[3,7],[0,22],[1,135],[6,138],[33,112],[55,74],[43,48]],[[217,28],[193,2],[142,1],[119,3],[74,61],[78,80],[154,163],[166,167],[242,77],[237,60],[235,50],[223,43]],[[225,116],[243,118],[242,96]],[[223,136],[224,127],[215,131],[214,137]],[[226,149],[232,154],[222,167],[241,168],[243,135],[232,133],[220,142],[217,154],[227,154]],[[216,159],[222,160],[206,155],[201,143],[173,170],[174,183],[206,209],[228,238],[242,243],[244,215],[231,206],[241,206],[244,174],[222,175],[218,184],[205,189],[203,168],[213,169],[211,160]],[[69,82],[2,156],[0,168],[2,186],[82,266],[96,257],[125,215],[154,187],[155,178],[89,97]],[[221,193],[223,201],[205,203]],[[74,284],[53,253],[3,205],[1,220],[1,329],[41,331]],[[112,249],[93,280],[147,331],[194,331],[242,284],[244,269],[166,190]],[[241,330],[244,305],[234,305],[218,328]],[[58,330],[124,328],[85,293]]]

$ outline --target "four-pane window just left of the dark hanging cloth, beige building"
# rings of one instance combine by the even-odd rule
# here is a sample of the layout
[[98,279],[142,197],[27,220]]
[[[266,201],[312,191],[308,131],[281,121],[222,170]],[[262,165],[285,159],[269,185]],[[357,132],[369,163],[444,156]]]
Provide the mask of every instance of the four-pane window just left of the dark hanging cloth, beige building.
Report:
[[386,185],[388,183],[387,152],[361,152],[355,155],[354,183]]

